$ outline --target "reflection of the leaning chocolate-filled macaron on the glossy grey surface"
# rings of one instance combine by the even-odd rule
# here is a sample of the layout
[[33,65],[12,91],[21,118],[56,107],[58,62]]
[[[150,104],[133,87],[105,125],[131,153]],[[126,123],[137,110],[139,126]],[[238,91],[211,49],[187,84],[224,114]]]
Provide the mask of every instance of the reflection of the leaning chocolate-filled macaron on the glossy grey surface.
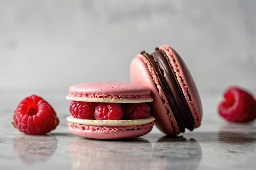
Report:
[[154,146],[150,170],[197,170],[201,159],[201,146],[195,139],[164,136]]

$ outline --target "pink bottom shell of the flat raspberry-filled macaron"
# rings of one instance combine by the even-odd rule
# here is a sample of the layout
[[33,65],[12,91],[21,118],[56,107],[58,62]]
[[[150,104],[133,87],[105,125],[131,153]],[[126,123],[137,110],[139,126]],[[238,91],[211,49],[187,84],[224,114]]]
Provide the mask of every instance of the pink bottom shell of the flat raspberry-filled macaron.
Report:
[[93,139],[126,139],[140,137],[148,134],[154,123],[136,126],[88,126],[74,123],[67,123],[70,132],[74,135]]

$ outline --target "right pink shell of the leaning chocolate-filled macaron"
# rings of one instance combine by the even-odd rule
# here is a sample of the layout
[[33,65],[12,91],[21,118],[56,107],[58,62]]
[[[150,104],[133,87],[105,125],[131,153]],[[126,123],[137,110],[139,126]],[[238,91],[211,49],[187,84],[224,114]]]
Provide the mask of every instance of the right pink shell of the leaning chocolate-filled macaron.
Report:
[[200,126],[202,121],[202,103],[189,69],[187,68],[180,55],[170,46],[160,46],[159,49],[163,50],[171,61],[173,70],[177,76],[177,80],[180,83],[183,94],[193,115],[195,123],[194,128],[197,128]]

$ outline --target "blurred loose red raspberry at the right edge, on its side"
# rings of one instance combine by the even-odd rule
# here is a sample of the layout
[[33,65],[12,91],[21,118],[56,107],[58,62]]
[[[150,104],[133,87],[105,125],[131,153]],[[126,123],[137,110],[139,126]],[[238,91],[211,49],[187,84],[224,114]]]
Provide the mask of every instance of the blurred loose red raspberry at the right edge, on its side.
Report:
[[219,113],[227,121],[248,122],[256,118],[256,101],[246,91],[230,87],[225,91],[224,97]]

